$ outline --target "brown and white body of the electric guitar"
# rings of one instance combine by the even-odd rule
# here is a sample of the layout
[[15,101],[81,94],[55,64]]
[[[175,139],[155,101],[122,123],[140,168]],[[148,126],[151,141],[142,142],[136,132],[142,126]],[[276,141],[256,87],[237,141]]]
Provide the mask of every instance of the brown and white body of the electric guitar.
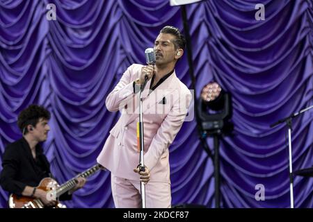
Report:
[[[43,178],[37,189],[51,191],[59,187],[58,182],[52,178]],[[52,197],[51,197],[52,198]],[[31,198],[29,196],[17,196],[11,194],[8,200],[10,208],[44,208],[44,204],[40,199]],[[65,208],[66,206],[56,201],[54,208]]]

